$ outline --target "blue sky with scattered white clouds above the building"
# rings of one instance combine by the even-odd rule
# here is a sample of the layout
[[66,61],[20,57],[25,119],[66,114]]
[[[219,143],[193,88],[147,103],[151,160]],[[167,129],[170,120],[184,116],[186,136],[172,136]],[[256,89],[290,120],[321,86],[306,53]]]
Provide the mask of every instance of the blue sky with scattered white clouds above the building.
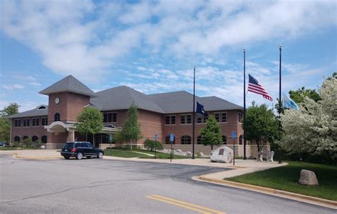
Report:
[[[317,89],[337,71],[336,1],[1,1],[0,108],[48,103],[38,94],[72,74],[93,91],[127,85],[186,90],[243,105],[246,71],[273,102]],[[207,109],[206,109],[207,111]]]

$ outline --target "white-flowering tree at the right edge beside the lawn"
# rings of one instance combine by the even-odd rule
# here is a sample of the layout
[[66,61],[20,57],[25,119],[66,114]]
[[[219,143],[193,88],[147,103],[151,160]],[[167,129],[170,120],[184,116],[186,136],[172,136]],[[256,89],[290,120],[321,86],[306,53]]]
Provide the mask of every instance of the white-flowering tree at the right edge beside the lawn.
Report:
[[337,76],[326,79],[319,89],[321,101],[304,98],[300,110],[281,116],[282,147],[291,153],[327,154],[337,158]]

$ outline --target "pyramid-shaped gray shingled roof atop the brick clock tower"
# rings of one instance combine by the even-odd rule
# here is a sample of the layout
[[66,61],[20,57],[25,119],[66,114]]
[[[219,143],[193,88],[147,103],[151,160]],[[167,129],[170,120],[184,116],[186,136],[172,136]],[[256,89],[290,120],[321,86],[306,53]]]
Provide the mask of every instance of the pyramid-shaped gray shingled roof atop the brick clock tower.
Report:
[[78,81],[72,75],[69,75],[68,77],[61,79],[60,81],[56,82],[55,84],[52,84],[48,88],[43,89],[39,93],[48,95],[63,91],[69,91],[76,94],[83,94],[90,97],[96,96],[93,91],[91,91],[87,86],[85,86],[85,84],[82,84],[82,82]]

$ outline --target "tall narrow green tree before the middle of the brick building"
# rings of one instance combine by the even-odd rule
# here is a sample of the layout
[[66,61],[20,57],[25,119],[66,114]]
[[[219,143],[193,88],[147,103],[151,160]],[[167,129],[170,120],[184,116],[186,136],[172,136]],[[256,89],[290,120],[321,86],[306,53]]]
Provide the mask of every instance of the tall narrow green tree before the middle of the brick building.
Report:
[[137,106],[132,103],[127,111],[127,117],[122,125],[122,137],[127,143],[131,142],[131,150],[133,142],[141,139],[141,129],[138,123]]

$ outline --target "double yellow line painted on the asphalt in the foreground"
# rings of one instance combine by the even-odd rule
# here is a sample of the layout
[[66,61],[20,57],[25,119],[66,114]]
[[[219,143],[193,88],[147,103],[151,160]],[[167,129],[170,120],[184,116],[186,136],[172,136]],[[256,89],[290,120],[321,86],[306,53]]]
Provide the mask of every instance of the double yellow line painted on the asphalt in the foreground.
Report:
[[157,201],[162,201],[162,202],[166,202],[166,203],[171,203],[173,205],[178,205],[181,206],[183,208],[188,208],[190,210],[195,210],[199,213],[205,213],[205,214],[209,214],[209,213],[216,213],[216,214],[225,214],[219,210],[213,210],[210,208],[205,208],[203,206],[200,205],[196,205],[193,203],[187,203],[185,201],[178,201],[176,199],[173,198],[166,198],[164,196],[158,196],[158,195],[151,195],[151,196],[146,196],[147,198],[151,198]]

